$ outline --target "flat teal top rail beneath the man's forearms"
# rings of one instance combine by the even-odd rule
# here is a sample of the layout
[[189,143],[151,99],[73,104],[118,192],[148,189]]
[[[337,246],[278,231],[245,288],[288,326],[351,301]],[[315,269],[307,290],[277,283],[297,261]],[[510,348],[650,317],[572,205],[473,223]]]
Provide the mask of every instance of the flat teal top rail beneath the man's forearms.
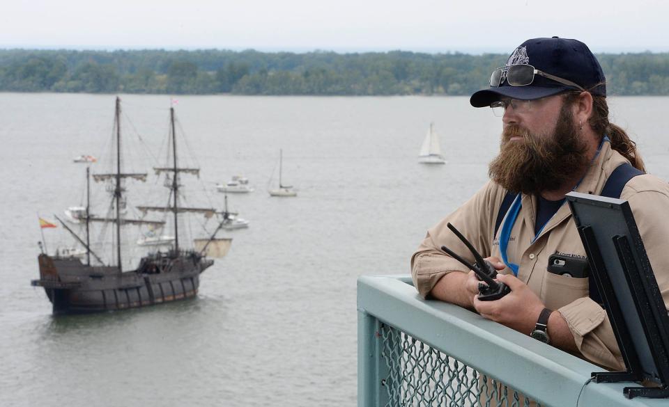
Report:
[[[590,382],[592,372],[603,371],[597,365],[475,312],[422,299],[408,276],[358,278],[357,309],[497,378],[542,405],[666,406],[666,400],[626,399],[623,388],[633,383]],[[359,346],[361,340],[366,340],[360,337],[366,335],[364,330],[360,331]],[[360,351],[358,357],[363,360],[359,364],[364,365],[361,353],[364,352]],[[359,369],[359,374],[367,374],[363,370]],[[363,383],[364,378],[358,380]]]

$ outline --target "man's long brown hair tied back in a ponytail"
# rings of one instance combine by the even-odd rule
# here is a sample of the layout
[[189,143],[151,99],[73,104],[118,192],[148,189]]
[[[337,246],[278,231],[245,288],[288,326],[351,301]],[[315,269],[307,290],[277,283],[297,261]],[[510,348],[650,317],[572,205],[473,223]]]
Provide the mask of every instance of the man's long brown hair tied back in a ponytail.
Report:
[[[567,93],[566,102],[574,102],[579,93]],[[606,97],[600,95],[592,95],[592,116],[587,120],[587,124],[592,127],[596,134],[606,134],[611,141],[611,148],[616,150],[622,157],[625,157],[629,163],[645,172],[646,168],[643,164],[643,159],[636,150],[636,143],[629,138],[627,133],[617,125],[608,121],[608,104]]]

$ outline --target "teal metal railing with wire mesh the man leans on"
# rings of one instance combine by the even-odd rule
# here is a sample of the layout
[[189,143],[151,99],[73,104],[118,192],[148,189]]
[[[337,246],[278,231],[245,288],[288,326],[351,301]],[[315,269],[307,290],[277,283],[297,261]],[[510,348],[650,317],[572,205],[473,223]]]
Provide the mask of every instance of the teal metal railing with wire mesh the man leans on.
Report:
[[358,407],[667,406],[592,383],[592,365],[440,301],[409,277],[357,281]]

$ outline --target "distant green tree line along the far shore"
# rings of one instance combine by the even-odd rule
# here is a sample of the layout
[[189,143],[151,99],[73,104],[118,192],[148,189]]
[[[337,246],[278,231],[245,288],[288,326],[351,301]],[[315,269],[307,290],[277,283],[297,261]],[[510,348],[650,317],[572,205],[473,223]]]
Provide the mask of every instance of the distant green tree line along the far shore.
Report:
[[[470,95],[503,54],[0,49],[0,91]],[[669,53],[597,55],[610,95],[669,95]]]

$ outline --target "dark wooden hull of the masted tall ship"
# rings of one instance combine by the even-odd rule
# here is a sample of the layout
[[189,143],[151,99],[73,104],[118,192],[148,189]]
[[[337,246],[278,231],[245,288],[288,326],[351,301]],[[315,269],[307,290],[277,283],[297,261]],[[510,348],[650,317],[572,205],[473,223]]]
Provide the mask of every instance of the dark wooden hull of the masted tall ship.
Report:
[[86,266],[74,257],[39,256],[40,279],[54,314],[126,310],[197,296],[199,275],[213,264],[194,253],[144,257],[134,271]]

